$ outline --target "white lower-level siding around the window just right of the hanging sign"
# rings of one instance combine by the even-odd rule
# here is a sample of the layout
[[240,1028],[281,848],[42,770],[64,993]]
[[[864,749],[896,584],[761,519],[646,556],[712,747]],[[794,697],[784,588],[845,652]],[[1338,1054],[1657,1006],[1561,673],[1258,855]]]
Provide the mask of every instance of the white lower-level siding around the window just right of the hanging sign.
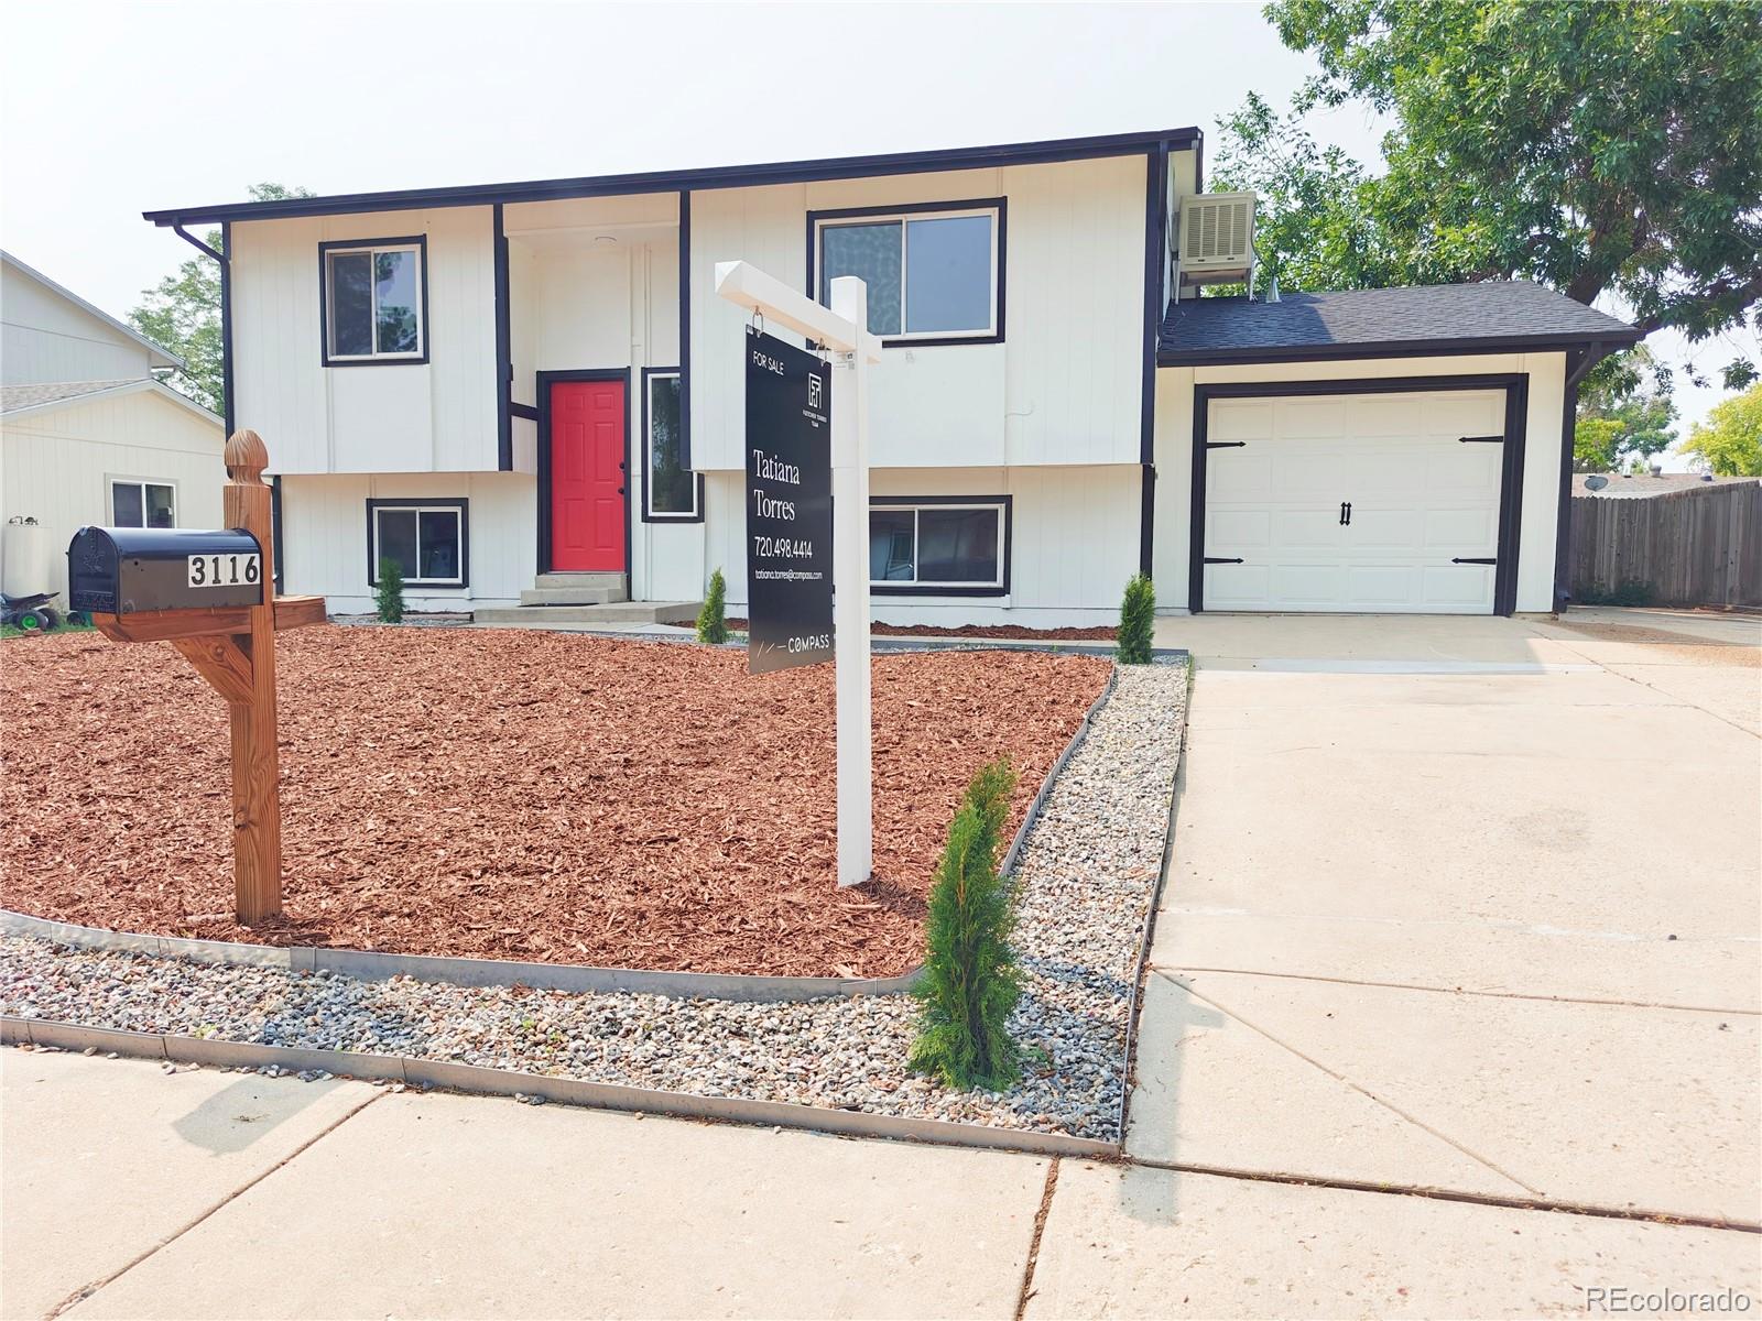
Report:
[[[722,569],[729,606],[745,609],[745,477],[705,479],[710,541],[705,572]],[[886,624],[1108,624],[1138,569],[1140,470],[1126,465],[1025,469],[876,469],[874,497],[1010,495],[1010,594],[876,595]]]

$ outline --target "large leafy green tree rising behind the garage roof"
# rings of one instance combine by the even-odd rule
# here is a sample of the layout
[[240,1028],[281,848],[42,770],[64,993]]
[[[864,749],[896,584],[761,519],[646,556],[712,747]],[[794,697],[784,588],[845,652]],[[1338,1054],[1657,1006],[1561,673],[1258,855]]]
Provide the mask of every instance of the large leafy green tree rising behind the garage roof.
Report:
[[[1299,113],[1357,100],[1394,120],[1380,176],[1253,100],[1225,122],[1219,157],[1258,151],[1237,176],[1270,176],[1265,247],[1297,287],[1521,277],[1586,305],[1614,298],[1642,331],[1690,340],[1755,317],[1762,23],[1746,5],[1274,0],[1265,12],[1322,65]],[[1739,389],[1755,365],[1723,375]]]

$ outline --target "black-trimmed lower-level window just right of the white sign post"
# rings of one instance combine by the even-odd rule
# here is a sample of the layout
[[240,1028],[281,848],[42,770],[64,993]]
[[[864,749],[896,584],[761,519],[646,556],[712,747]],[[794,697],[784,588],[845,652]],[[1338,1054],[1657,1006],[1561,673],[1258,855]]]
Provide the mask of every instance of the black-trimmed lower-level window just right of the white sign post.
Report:
[[877,592],[1003,595],[1010,590],[1010,497],[874,500],[869,581]]

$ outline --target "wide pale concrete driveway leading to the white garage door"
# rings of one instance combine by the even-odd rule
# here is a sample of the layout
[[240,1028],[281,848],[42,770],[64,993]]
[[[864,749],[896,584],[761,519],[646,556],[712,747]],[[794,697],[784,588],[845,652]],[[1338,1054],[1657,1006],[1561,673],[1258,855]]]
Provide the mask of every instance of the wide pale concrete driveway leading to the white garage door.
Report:
[[1762,624],[1200,616],[1128,1148],[1762,1221]]

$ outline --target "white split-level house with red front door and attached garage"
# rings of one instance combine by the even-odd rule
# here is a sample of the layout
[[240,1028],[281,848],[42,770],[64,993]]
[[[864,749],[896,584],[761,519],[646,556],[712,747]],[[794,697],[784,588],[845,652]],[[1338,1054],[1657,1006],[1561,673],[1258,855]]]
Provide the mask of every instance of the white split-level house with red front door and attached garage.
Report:
[[1202,174],[1179,129],[148,218],[226,234],[229,426],[333,609],[393,557],[419,609],[678,616],[721,567],[744,611],[729,259],[869,282],[876,618],[1103,624],[1138,569],[1165,611],[1552,609],[1575,384],[1635,331],[1528,284],[1198,298],[1251,232]]

